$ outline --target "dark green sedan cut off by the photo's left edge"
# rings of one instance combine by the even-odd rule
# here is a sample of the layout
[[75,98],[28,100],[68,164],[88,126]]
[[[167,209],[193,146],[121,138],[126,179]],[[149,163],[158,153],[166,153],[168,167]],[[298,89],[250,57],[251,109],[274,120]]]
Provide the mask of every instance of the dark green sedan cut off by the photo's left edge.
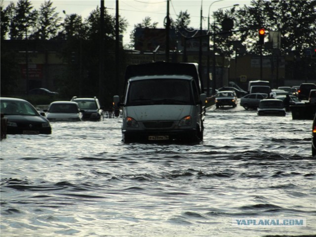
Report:
[[49,121],[26,100],[0,98],[0,111],[7,121],[7,134],[51,134]]

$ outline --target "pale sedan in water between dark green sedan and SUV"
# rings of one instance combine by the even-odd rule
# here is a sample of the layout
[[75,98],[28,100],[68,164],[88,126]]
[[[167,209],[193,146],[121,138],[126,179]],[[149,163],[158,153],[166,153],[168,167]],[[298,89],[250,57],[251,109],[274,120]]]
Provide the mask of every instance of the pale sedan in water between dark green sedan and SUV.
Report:
[[81,121],[84,112],[74,101],[54,101],[43,111],[49,121]]

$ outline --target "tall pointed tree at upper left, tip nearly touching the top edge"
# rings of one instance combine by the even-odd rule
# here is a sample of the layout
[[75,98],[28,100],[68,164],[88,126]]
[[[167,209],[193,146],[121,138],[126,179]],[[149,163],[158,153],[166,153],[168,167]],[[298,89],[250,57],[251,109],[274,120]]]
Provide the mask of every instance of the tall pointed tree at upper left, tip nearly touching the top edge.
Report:
[[38,18],[34,29],[33,38],[49,40],[56,37],[60,27],[61,17],[55,12],[56,7],[52,7],[53,2],[48,0],[40,4]]

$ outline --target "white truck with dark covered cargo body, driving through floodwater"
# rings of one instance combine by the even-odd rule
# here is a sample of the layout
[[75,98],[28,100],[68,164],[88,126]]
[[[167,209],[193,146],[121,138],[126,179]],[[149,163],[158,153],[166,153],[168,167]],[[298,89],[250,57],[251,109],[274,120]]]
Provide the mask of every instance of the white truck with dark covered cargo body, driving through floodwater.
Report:
[[122,140],[189,141],[203,139],[206,94],[195,63],[130,65],[122,100]]

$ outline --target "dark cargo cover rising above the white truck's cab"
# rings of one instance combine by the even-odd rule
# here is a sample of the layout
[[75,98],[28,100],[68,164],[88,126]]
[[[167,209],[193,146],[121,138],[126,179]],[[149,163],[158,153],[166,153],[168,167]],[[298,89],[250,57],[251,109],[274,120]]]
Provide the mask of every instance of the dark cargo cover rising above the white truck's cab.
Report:
[[168,63],[154,62],[138,65],[129,65],[125,71],[125,86],[128,79],[138,76],[155,75],[187,75],[197,84],[198,92],[203,93],[203,83],[199,78],[197,63]]

